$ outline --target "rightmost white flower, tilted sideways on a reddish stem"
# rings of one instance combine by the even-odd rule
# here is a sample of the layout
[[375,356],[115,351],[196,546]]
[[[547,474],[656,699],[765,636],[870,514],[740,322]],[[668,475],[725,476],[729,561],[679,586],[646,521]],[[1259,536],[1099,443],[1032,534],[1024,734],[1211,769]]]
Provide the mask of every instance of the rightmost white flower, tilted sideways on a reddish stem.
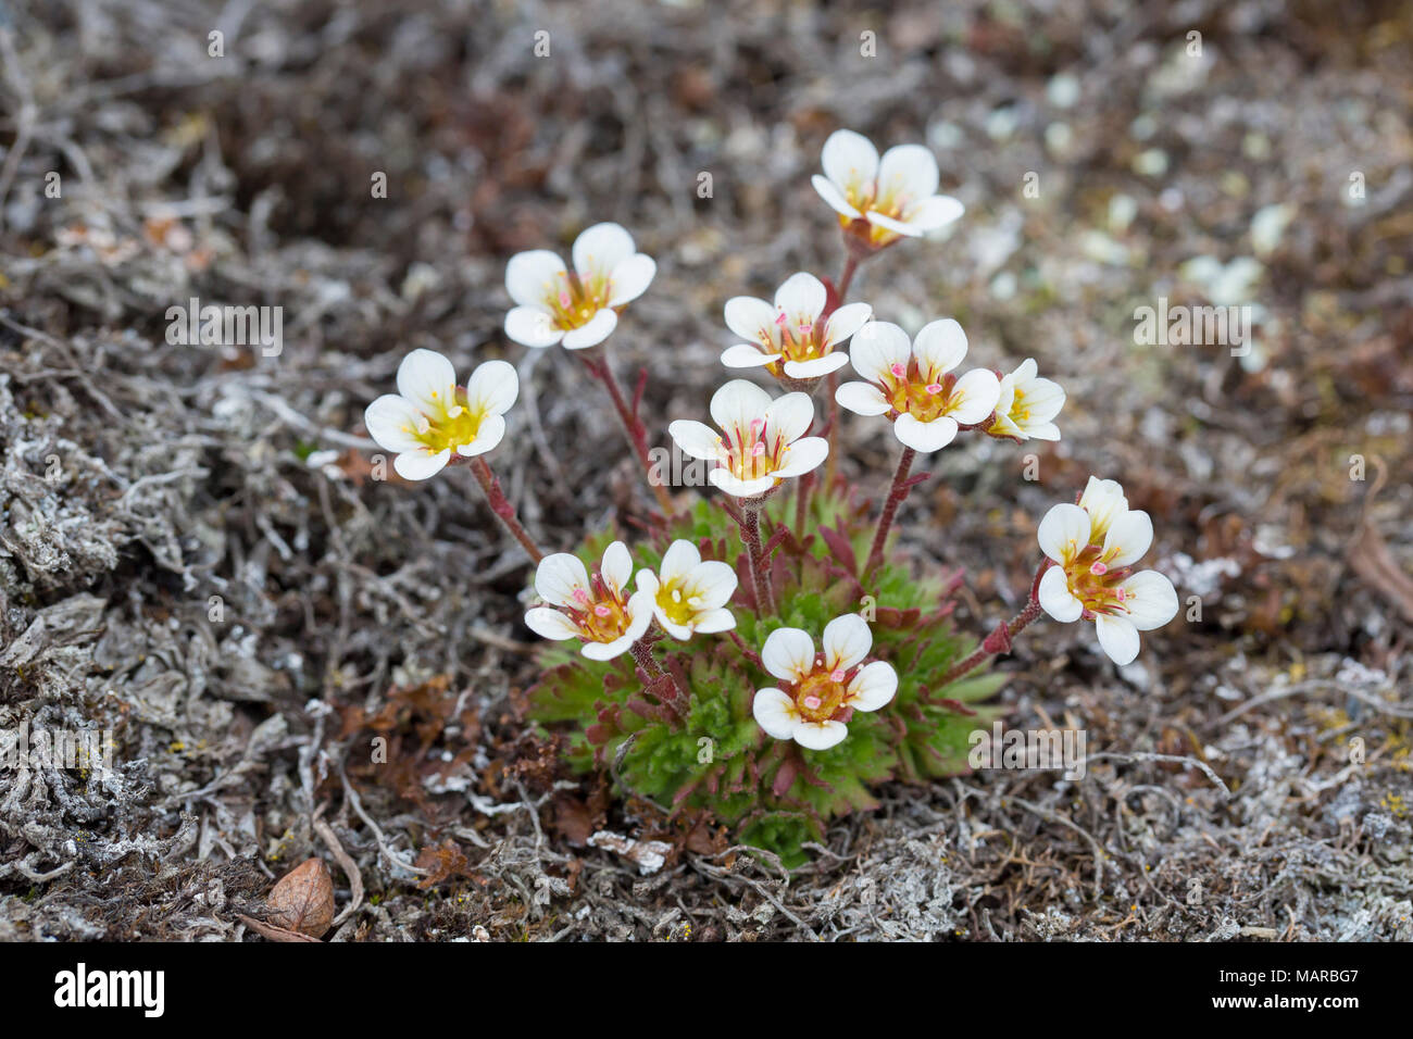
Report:
[[1116,664],[1139,654],[1139,632],[1177,615],[1177,591],[1156,570],[1133,573],[1153,544],[1153,520],[1129,509],[1123,488],[1089,478],[1080,505],[1057,505],[1036,532],[1057,565],[1040,578],[1037,598],[1056,621],[1094,621],[1099,647]]

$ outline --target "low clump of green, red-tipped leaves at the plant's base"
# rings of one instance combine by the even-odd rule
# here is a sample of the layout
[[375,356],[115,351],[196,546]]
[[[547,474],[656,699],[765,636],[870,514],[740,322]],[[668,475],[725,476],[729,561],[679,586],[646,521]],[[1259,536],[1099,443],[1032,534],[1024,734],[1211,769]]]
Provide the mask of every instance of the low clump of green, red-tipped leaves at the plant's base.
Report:
[[[736,841],[766,848],[790,868],[807,861],[803,845],[822,840],[829,820],[875,807],[879,783],[965,772],[968,734],[999,714],[978,701],[1003,681],[1002,674],[974,671],[942,684],[948,669],[975,647],[950,619],[959,575],[917,575],[890,550],[861,582],[858,563],[873,534],[866,505],[851,502],[846,492],[821,491],[810,499],[803,524],[796,507],[793,495],[779,495],[762,512],[762,536],[776,541],[776,615],[753,608],[746,548],[719,503],[698,502],[634,547],[634,564],[656,570],[667,546],[687,539],[702,558],[723,560],[739,577],[731,604],[738,638],[664,638],[653,647],[690,694],[685,717],[653,694],[630,654],[593,662],[572,642],[544,645],[543,677],[528,694],[531,718],[567,729],[577,770],[609,770],[620,793],[670,816],[726,824]],[[793,533],[805,529],[815,533]],[[592,570],[612,540],[613,532],[588,539],[579,558]],[[756,690],[777,684],[757,656],[766,636],[781,626],[801,628],[818,646],[824,626],[849,612],[870,622],[870,657],[893,664],[896,697],[879,711],[856,712],[848,738],[828,751],[773,739],[752,715]]]

